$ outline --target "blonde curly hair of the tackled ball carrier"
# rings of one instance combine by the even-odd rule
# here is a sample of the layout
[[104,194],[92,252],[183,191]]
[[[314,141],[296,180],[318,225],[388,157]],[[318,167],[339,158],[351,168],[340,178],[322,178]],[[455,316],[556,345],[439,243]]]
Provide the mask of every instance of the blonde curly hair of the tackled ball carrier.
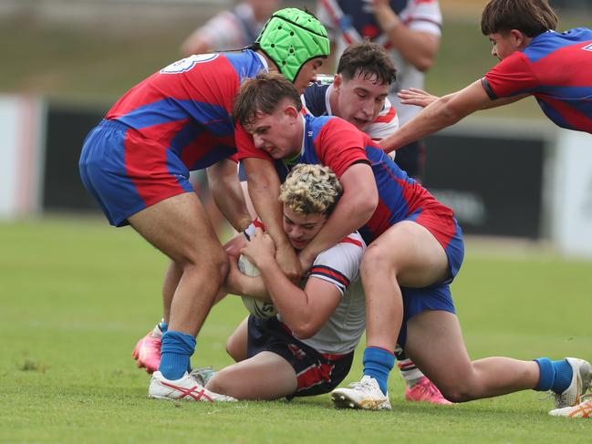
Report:
[[343,192],[329,167],[298,163],[280,188],[279,200],[297,214],[333,212]]

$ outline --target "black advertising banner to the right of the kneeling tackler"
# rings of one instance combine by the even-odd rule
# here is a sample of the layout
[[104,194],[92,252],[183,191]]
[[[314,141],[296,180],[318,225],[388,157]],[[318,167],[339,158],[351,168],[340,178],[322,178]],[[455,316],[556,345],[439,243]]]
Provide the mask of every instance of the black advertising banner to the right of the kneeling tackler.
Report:
[[469,234],[541,236],[544,139],[437,135],[426,140],[424,186]]

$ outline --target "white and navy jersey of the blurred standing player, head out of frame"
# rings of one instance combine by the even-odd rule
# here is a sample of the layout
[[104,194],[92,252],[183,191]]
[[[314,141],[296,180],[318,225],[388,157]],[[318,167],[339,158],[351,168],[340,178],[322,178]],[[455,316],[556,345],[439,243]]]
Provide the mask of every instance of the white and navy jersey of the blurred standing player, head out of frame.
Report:
[[[397,92],[401,89],[423,88],[423,73],[402,57],[399,51],[392,49],[388,37],[379,27],[371,0],[319,0],[317,5],[317,17],[327,27],[329,38],[336,43],[332,56],[338,60],[350,43],[363,38],[384,45],[397,67],[397,81],[390,88],[389,99],[397,108],[400,124],[420,112],[421,107],[401,105]],[[390,0],[389,5],[410,29],[441,36],[442,18],[438,0]]]

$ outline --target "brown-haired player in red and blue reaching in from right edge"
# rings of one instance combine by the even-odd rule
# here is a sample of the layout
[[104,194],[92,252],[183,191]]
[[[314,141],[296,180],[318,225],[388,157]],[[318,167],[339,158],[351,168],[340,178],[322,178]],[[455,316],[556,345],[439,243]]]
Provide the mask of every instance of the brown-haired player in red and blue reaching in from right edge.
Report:
[[558,33],[556,26],[547,0],[491,0],[483,9],[481,30],[500,63],[468,87],[433,101],[382,147],[399,150],[474,111],[529,96],[556,125],[592,133],[592,70],[582,68],[592,64],[592,30]]

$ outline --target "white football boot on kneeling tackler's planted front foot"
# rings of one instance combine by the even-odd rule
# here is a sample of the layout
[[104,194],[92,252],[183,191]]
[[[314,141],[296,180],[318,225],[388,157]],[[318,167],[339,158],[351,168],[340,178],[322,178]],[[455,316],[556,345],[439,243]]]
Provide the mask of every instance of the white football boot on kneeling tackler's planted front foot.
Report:
[[348,388],[336,388],[331,392],[331,400],[337,408],[391,409],[389,394],[382,393],[377,380],[369,376],[349,384]]

